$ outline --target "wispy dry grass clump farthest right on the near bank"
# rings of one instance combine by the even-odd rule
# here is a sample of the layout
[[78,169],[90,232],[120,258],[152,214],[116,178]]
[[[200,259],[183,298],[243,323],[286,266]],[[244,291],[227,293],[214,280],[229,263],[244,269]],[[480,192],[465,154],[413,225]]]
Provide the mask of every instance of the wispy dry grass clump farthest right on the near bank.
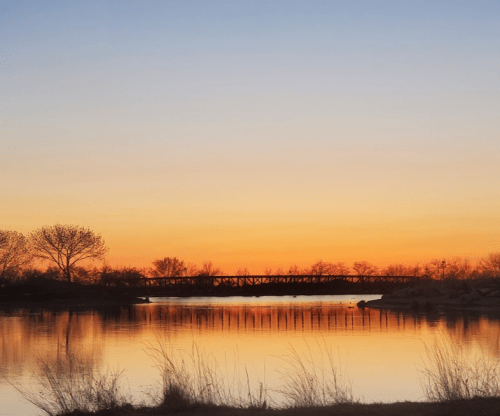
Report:
[[469,356],[461,344],[441,336],[420,370],[424,394],[430,401],[500,397],[500,360],[484,353]]

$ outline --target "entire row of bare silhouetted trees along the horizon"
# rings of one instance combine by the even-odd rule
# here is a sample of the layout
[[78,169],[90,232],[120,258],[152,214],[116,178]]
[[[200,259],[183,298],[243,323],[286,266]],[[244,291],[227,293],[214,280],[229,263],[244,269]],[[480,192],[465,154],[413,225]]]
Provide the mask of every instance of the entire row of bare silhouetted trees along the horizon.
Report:
[[[6,280],[22,280],[30,277],[75,280],[99,283],[106,280],[134,279],[143,277],[220,276],[223,272],[212,262],[201,267],[176,257],[164,257],[152,262],[149,268],[118,267],[104,265],[86,267],[85,260],[104,260],[108,248],[100,234],[86,227],[61,225],[41,227],[28,235],[17,231],[0,230],[0,284]],[[36,260],[49,263],[45,270],[34,267]],[[250,275],[247,268],[235,273]],[[473,279],[500,277],[500,252],[490,253],[472,265],[468,259],[433,260],[425,264],[392,264],[384,268],[367,262],[317,261],[306,268],[291,265],[287,270],[266,269],[266,275],[358,275],[358,276],[415,276],[431,279]]]

